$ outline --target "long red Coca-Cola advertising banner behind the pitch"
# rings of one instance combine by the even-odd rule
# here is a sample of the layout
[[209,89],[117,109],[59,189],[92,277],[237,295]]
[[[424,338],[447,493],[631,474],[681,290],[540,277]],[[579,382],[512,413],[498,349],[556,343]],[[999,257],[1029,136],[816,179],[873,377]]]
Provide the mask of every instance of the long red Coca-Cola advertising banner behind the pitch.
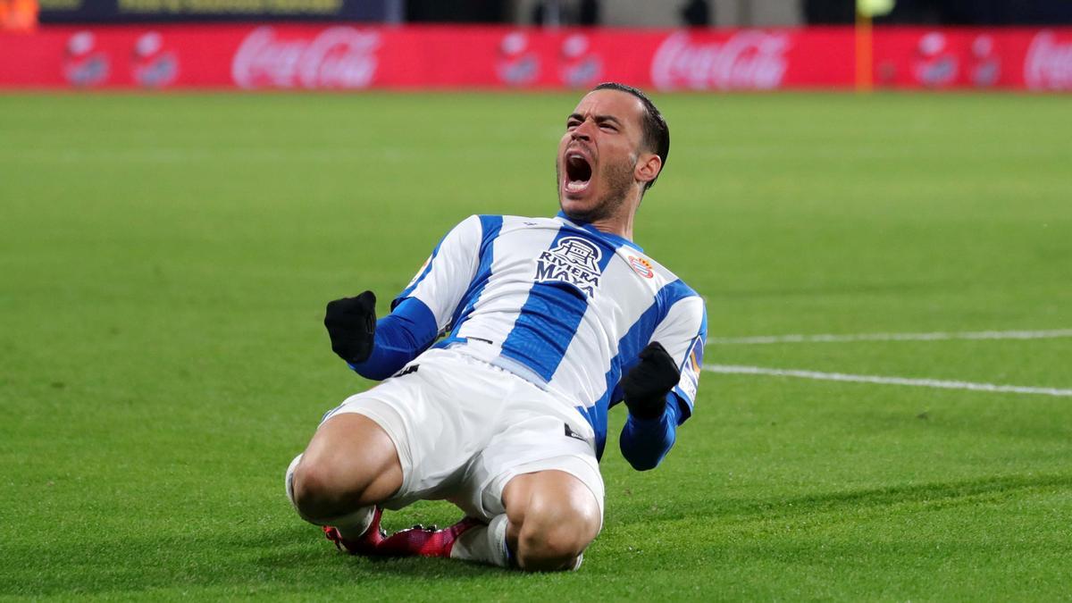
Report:
[[[851,88],[851,28],[44,27],[0,34],[3,88]],[[1072,29],[876,29],[896,88],[1072,90]]]

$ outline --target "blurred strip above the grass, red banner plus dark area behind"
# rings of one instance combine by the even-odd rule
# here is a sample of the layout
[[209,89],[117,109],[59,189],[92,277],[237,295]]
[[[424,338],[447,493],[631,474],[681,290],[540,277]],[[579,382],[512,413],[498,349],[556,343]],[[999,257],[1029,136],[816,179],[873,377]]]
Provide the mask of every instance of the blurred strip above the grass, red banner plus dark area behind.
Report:
[[1066,0],[0,0],[0,20],[8,88],[1072,88]]

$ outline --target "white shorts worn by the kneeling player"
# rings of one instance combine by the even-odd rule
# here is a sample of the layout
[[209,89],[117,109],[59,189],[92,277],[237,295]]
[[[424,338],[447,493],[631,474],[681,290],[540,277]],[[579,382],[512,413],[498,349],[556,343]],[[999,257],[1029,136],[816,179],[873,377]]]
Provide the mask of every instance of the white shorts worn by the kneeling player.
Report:
[[604,509],[592,425],[569,402],[458,350],[433,349],[396,377],[351,396],[324,415],[358,413],[387,431],[402,465],[402,487],[383,503],[448,499],[490,521],[506,512],[516,475],[565,471]]

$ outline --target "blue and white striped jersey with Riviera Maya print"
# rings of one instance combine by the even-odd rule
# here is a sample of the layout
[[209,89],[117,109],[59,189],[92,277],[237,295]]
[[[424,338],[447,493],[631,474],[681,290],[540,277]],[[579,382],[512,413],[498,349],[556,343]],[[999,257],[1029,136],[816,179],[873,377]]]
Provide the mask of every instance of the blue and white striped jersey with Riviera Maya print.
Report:
[[601,452],[619,381],[651,341],[678,361],[678,423],[693,412],[703,299],[622,237],[555,218],[471,216],[436,246],[392,308],[417,299],[441,335],[569,399]]

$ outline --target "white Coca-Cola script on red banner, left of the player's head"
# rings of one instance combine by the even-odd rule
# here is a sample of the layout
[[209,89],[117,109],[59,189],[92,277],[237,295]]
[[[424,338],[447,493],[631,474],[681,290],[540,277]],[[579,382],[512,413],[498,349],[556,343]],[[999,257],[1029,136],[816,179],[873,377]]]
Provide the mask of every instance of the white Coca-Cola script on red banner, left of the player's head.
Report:
[[279,40],[271,27],[245,36],[230,64],[242,88],[364,88],[376,74],[379,34],[331,27],[316,38]]

